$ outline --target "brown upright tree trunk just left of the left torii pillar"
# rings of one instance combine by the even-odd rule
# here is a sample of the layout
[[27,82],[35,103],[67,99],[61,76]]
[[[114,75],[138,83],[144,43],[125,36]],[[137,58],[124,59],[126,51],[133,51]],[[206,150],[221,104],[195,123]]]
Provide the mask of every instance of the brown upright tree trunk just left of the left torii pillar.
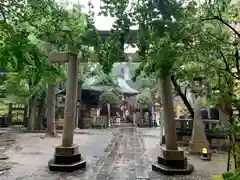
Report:
[[46,135],[50,137],[56,136],[55,127],[55,106],[56,106],[56,86],[49,84],[47,92],[47,132]]

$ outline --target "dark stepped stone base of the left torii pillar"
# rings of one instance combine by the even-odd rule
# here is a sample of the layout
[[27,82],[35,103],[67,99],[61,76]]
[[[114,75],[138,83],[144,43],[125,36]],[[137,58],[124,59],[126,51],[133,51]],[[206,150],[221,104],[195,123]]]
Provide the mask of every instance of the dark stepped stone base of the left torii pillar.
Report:
[[86,161],[81,157],[79,147],[57,146],[54,158],[48,161],[50,171],[73,172],[86,167]]

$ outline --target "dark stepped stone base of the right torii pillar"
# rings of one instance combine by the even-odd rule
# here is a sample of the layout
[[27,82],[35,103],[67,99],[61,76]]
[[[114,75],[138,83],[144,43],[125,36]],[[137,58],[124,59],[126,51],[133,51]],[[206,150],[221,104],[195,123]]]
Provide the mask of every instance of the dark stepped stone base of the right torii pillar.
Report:
[[193,169],[193,166],[188,164],[183,150],[168,150],[164,147],[161,147],[157,162],[152,164],[153,171],[167,175],[190,174]]

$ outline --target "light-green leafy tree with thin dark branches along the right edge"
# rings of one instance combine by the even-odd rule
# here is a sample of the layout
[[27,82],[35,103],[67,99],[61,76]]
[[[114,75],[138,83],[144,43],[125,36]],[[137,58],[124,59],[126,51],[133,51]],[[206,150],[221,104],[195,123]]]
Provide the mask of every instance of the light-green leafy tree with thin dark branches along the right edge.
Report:
[[[210,105],[219,107],[229,117],[229,138],[232,142],[236,132],[232,131],[236,117],[233,107],[239,111],[239,34],[236,20],[237,6],[230,1],[206,1],[201,5],[193,29],[196,30],[195,43],[181,56],[177,72],[180,81],[200,80],[207,86],[206,98]],[[200,78],[199,78],[200,77]],[[210,84],[210,86],[209,86]],[[236,163],[235,143],[230,143]],[[233,148],[232,148],[233,147]],[[230,153],[229,153],[230,155]],[[229,156],[230,157],[230,156]],[[228,170],[230,158],[228,161]]]

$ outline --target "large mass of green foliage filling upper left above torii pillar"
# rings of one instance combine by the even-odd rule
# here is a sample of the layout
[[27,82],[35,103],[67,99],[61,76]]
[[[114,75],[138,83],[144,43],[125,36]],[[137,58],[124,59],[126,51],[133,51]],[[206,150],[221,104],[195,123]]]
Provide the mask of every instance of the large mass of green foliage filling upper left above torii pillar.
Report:
[[[53,49],[49,43],[59,51],[66,47],[80,50],[87,59],[91,53],[86,46],[96,44],[96,29],[78,5],[66,10],[54,0],[8,3],[11,6],[1,5],[4,19],[0,22],[0,67],[13,73],[9,73],[2,89],[7,90],[8,97],[26,102],[32,96],[40,98],[48,83],[66,80],[66,65],[48,62],[47,55]],[[72,29],[71,38],[62,31],[64,26]]]

